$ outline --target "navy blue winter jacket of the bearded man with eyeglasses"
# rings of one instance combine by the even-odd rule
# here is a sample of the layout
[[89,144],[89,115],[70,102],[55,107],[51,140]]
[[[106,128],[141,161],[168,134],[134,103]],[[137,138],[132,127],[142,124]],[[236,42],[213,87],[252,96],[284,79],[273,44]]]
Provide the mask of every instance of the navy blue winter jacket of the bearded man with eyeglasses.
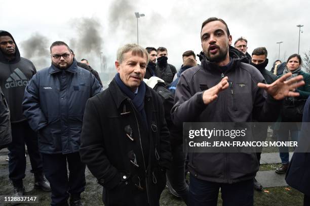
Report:
[[66,70],[54,65],[38,71],[25,89],[24,115],[38,132],[42,153],[79,151],[85,104],[100,92],[94,75],[74,60]]

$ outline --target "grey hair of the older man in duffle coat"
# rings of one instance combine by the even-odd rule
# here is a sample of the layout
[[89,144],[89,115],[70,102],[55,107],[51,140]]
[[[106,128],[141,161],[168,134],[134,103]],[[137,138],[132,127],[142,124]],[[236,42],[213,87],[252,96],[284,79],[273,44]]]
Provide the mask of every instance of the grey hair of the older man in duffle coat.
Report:
[[148,53],[145,48],[142,46],[135,44],[135,43],[129,43],[126,44],[118,49],[117,53],[117,61],[122,64],[124,60],[124,54],[131,52],[133,56],[139,56],[139,57],[146,57],[146,63],[148,62]]

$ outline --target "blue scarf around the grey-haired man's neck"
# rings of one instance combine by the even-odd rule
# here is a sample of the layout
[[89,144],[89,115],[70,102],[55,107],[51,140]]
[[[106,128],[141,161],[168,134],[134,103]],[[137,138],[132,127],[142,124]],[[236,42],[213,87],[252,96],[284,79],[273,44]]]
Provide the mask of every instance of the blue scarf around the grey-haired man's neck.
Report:
[[138,87],[137,94],[132,92],[130,88],[124,84],[124,82],[121,80],[120,73],[117,73],[115,75],[115,81],[117,82],[121,90],[129,98],[131,98],[133,105],[135,106],[139,114],[141,115],[143,125],[146,126],[146,129],[147,129],[147,118],[146,118],[146,114],[144,110],[144,96],[145,96],[145,90],[146,90],[144,81],[141,81],[141,84]]

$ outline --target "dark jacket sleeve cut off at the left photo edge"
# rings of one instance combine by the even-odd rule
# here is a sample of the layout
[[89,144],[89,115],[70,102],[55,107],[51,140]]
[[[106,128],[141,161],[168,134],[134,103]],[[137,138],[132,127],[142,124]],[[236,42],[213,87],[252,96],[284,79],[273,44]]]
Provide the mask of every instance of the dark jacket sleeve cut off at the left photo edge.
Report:
[[12,142],[10,110],[6,98],[0,87],[0,149]]

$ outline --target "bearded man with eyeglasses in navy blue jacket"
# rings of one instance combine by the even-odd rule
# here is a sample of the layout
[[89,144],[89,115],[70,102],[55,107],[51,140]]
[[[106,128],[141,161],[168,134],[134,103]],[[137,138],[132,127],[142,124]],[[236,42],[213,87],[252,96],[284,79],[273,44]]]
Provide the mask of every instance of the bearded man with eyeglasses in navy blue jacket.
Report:
[[43,171],[51,183],[51,205],[68,205],[69,196],[71,206],[82,205],[86,184],[79,154],[82,120],[87,99],[101,86],[94,75],[77,66],[65,42],[55,41],[50,50],[52,65],[29,81],[23,111],[38,133]]

